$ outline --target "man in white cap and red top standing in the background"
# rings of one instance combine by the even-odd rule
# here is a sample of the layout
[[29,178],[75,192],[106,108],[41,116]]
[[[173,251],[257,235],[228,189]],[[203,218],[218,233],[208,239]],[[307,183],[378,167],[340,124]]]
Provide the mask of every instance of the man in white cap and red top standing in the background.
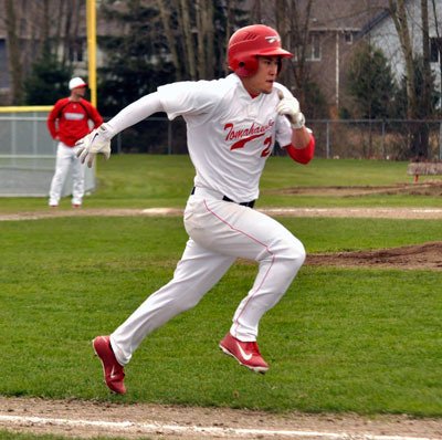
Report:
[[57,207],[69,171],[72,169],[72,206],[81,207],[84,196],[84,166],[73,149],[75,143],[91,132],[88,122],[94,128],[103,124],[97,109],[86,99],[87,84],[81,77],[73,77],[69,83],[71,95],[59,99],[48,115],[48,128],[56,146],[55,174],[49,192],[50,207]]

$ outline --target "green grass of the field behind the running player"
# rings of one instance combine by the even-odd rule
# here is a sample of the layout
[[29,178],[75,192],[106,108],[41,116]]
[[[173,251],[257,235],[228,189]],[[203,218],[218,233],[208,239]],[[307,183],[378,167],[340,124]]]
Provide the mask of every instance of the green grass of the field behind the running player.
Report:
[[[409,182],[399,163],[272,158],[260,206],[441,207],[441,198],[315,198],[266,195],[295,186]],[[86,207],[182,207],[187,157],[99,161]],[[62,209],[69,208],[69,199]],[[1,211],[44,209],[2,199]],[[307,252],[379,249],[442,240],[438,220],[282,218]],[[53,218],[2,221],[0,395],[118,402],[409,413],[442,417],[442,272],[304,266],[261,322],[271,364],[255,375],[224,356],[219,339],[256,268],[240,262],[201,303],[150,335],[127,366],[126,396],[102,383],[91,339],[112,332],[165,284],[180,258],[181,218]]]

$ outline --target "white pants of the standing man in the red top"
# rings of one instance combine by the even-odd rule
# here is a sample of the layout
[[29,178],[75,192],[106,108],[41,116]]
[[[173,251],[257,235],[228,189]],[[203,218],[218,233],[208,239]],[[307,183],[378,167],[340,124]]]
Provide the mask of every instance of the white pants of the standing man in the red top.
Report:
[[74,149],[63,143],[56,146],[55,174],[49,191],[49,205],[57,206],[63,186],[72,170],[72,205],[82,205],[84,196],[84,165],[76,157]]

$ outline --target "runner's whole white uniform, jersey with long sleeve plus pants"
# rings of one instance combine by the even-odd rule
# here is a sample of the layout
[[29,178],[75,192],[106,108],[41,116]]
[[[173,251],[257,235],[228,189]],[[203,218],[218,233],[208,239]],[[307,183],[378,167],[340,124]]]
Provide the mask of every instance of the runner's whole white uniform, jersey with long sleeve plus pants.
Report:
[[238,258],[254,260],[259,273],[239,304],[230,334],[256,341],[262,315],[283,296],[304,263],[305,249],[271,217],[225,201],[252,201],[275,142],[292,143],[292,127],[276,113],[277,91],[252,98],[235,75],[218,81],[165,85],[120,112],[108,124],[118,132],[148,115],[182,115],[197,175],[183,223],[189,240],[172,280],[146,301],[110,335],[116,359],[126,365],[143,339],[170,318],[198,304]]

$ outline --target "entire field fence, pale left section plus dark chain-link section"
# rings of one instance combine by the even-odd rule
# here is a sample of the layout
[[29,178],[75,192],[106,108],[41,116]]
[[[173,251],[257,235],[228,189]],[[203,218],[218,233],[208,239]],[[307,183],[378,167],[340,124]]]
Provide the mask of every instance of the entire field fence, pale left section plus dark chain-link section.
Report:
[[[48,133],[46,115],[0,114],[0,196],[48,193],[56,143]],[[316,157],[408,160],[423,150],[425,159],[442,160],[442,121],[320,119],[307,125],[316,137]],[[113,153],[187,154],[185,121],[149,117],[118,134]],[[276,148],[274,154],[284,153]],[[87,190],[94,186],[88,170]]]

